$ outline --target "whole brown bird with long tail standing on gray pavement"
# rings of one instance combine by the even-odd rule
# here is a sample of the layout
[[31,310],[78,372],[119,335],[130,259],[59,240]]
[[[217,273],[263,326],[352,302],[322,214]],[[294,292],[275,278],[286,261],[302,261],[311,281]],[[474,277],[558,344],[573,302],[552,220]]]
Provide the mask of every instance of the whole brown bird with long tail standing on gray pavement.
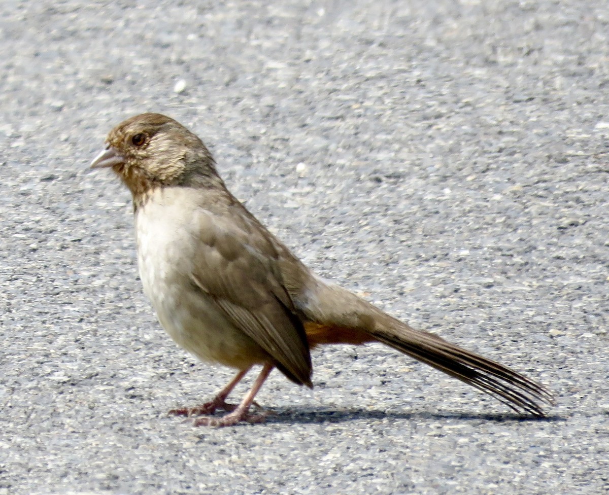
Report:
[[[315,275],[228,190],[188,128],[159,113],[121,122],[92,169],[132,194],[139,275],[161,326],[203,362],[236,375],[209,402],[169,411],[195,426],[262,423],[255,396],[274,368],[312,388],[311,350],[380,342],[472,385],[521,415],[546,416],[554,394],[494,360],[449,343]],[[226,399],[255,366],[239,404]],[[224,410],[222,416],[215,415]]]

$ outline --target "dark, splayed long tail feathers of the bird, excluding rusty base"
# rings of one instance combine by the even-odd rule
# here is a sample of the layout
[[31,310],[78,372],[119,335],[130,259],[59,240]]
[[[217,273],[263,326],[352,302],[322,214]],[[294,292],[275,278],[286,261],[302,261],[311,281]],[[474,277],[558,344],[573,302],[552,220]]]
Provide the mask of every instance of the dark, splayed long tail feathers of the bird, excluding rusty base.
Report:
[[516,412],[543,417],[546,414],[540,402],[554,404],[552,393],[543,385],[437,335],[414,330],[404,323],[398,328],[375,330],[371,334],[379,342],[494,396]]

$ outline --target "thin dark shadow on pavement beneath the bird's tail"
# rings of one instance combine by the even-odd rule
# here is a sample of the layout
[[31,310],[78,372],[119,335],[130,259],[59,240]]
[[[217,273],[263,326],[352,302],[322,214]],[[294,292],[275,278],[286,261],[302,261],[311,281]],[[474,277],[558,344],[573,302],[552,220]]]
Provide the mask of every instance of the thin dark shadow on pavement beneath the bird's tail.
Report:
[[412,411],[396,412],[379,409],[286,409],[273,410],[266,416],[267,424],[315,424],[315,423],[348,423],[358,420],[459,420],[459,421],[493,421],[495,423],[543,421],[566,421],[558,415],[539,418],[516,413],[505,414],[472,414],[465,412],[430,412]]

